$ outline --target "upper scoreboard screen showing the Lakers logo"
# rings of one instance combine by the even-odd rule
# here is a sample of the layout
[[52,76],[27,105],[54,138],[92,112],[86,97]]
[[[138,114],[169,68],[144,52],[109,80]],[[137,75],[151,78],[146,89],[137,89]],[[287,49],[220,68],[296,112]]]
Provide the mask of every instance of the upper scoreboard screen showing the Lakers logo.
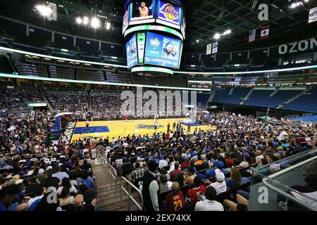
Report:
[[156,22],[170,27],[175,27],[176,29],[180,29],[180,23],[182,20],[182,8],[163,0],[158,1],[159,7]]

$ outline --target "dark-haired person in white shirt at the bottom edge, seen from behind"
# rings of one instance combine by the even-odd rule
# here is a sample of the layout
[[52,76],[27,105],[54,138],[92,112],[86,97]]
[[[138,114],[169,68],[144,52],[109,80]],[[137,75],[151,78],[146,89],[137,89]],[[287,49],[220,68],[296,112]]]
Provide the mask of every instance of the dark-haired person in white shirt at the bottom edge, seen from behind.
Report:
[[216,201],[216,190],[213,186],[206,187],[206,200],[199,201],[195,205],[196,211],[224,211],[223,205]]

